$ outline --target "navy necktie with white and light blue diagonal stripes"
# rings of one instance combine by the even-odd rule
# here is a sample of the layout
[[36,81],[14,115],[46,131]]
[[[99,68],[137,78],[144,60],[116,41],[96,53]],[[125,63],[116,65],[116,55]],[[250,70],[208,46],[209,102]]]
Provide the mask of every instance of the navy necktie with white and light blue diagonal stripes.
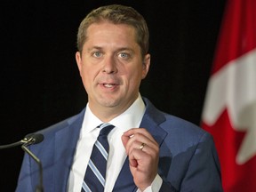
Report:
[[108,161],[108,133],[115,126],[112,124],[100,124],[100,134],[92,148],[81,191],[102,192],[105,187],[105,177]]

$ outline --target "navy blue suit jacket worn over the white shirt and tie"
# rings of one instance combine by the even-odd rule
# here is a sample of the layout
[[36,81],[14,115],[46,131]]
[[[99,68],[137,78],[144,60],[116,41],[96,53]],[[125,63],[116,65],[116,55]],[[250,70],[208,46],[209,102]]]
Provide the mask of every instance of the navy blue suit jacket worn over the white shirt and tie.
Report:
[[[146,128],[160,147],[158,174],[164,180],[160,191],[222,191],[212,136],[195,124],[159,111],[146,98],[143,100],[146,112],[140,127]],[[43,164],[45,192],[67,191],[84,111],[40,131],[44,141],[29,147]],[[34,192],[38,182],[38,165],[25,155],[16,191]],[[113,191],[136,190],[126,158]]]

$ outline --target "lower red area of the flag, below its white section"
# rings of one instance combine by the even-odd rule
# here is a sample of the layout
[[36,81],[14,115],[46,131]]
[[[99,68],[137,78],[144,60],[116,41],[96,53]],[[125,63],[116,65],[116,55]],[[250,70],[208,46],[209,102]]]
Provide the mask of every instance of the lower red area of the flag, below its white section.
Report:
[[[225,124],[225,129],[223,129]],[[244,132],[234,132],[228,111],[225,110],[218,121],[204,130],[212,133],[220,157],[222,183],[225,192],[251,192],[256,190],[256,156],[246,164],[236,164],[236,154],[244,139]],[[254,188],[254,190],[253,190]]]

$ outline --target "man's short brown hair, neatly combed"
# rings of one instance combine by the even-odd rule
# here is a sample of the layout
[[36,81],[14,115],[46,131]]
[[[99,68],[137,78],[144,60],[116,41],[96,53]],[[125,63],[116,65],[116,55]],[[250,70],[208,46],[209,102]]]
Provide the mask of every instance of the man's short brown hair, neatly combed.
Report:
[[148,53],[149,32],[146,20],[144,20],[143,16],[132,7],[121,4],[101,6],[87,14],[78,28],[77,49],[79,52],[83,51],[87,28],[93,23],[100,23],[105,20],[114,24],[127,24],[135,28],[136,41],[140,45],[142,56]]

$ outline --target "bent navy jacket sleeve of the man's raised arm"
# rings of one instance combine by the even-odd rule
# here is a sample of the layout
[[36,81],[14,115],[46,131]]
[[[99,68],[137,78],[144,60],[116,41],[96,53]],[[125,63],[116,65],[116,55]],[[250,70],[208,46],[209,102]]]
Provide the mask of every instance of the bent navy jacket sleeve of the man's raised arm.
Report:
[[207,132],[196,145],[172,156],[170,167],[168,174],[162,176],[161,192],[223,191],[219,159],[212,136]]

